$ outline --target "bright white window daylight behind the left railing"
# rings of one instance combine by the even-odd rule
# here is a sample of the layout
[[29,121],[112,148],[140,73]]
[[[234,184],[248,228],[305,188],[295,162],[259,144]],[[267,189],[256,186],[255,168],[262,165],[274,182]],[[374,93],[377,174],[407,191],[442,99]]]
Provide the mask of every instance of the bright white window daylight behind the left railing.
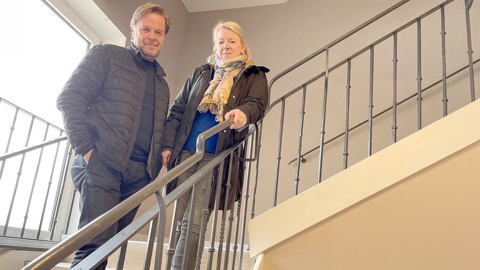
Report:
[[[90,44],[42,0],[1,1],[0,16],[4,21],[4,40],[0,43],[3,153],[7,147],[8,152],[17,151],[39,144],[45,137],[60,136],[61,131],[55,128],[63,129],[57,96]],[[16,113],[12,104],[52,125],[38,118],[32,121],[32,115],[22,110]],[[42,224],[42,230],[49,229],[59,196],[65,147],[63,141],[55,164],[57,144],[43,149],[41,162],[40,149],[24,158],[20,155],[0,162],[0,226],[8,223],[6,235],[18,236],[10,228],[37,230]]]

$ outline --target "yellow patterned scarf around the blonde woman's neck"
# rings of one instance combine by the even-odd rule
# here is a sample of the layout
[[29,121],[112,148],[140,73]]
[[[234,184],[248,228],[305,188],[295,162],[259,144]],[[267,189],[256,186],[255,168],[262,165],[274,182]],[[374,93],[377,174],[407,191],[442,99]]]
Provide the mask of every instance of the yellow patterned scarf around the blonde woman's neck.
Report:
[[223,122],[223,109],[229,101],[233,78],[238,76],[247,61],[246,55],[240,55],[230,60],[219,59],[215,56],[215,74],[210,85],[197,107],[200,112],[210,109],[215,114],[217,122]]

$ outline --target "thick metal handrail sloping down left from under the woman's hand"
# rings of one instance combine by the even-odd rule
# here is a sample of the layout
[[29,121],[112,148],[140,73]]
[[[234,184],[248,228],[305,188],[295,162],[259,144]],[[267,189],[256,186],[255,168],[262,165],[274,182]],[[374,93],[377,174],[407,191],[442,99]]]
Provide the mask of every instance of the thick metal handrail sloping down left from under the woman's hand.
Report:
[[[165,173],[159,179],[151,182],[146,187],[142,188],[125,201],[121,202],[114,208],[110,209],[108,212],[96,218],[94,221],[87,224],[85,227],[81,228],[80,230],[72,234],[70,237],[57,244],[52,249],[43,253],[41,256],[39,256],[38,258],[30,262],[28,265],[26,265],[24,268],[22,268],[22,270],[45,270],[53,268],[57,263],[61,262],[64,258],[75,252],[75,250],[82,247],[84,243],[93,239],[96,235],[98,235],[99,233],[110,227],[117,220],[122,218],[130,210],[140,205],[148,197],[159,192],[162,187],[164,187],[170,181],[179,176],[182,172],[188,169],[188,167],[200,161],[205,152],[205,140],[213,136],[214,134],[220,132],[221,130],[227,128],[232,123],[232,118],[230,118],[201,133],[197,138],[196,153],[193,154],[190,158],[188,158],[185,162],[182,162],[171,170],[167,171],[167,173]],[[250,132],[251,129],[254,128],[255,127],[251,127]],[[239,144],[247,138],[240,141]]]

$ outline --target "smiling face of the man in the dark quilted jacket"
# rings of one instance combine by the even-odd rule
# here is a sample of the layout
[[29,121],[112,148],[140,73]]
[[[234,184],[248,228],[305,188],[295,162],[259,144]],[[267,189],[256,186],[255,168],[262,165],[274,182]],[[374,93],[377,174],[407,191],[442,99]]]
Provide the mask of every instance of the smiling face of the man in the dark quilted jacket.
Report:
[[165,38],[165,18],[156,13],[145,14],[132,27],[133,45],[142,58],[153,61],[160,54]]

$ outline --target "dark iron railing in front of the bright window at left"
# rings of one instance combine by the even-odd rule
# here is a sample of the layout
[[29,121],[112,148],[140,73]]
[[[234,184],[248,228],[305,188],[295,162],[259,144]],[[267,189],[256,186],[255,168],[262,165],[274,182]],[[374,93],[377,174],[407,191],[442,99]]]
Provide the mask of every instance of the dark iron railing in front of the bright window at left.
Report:
[[[0,189],[11,194],[11,199],[4,208],[8,209],[5,216],[2,216],[4,220],[0,222],[1,236],[53,240],[55,234],[58,237],[55,240],[60,240],[62,231],[56,230],[56,225],[66,180],[65,162],[68,159],[68,145],[62,144],[63,141],[66,141],[66,137],[63,135],[64,131],[1,98],[0,106],[4,120],[12,117],[10,130],[2,132],[3,135],[8,134],[8,139],[4,140],[6,142],[5,153],[0,155]],[[28,128],[25,126],[27,123]],[[20,146],[21,138],[25,134],[26,139],[23,145],[25,148],[10,153],[9,150],[12,147]],[[39,137],[40,134],[42,134],[42,139]],[[60,137],[50,140],[57,136]],[[38,141],[42,141],[42,143],[29,146]],[[62,156],[61,148],[63,147],[65,147],[65,151]],[[63,163],[60,164],[58,161],[62,159]],[[17,171],[15,175],[13,169],[16,166],[18,166],[18,170],[15,170]],[[61,168],[62,166],[63,168]],[[33,175],[29,175],[32,172]],[[26,179],[27,177],[28,179]],[[30,188],[19,188],[28,187],[24,183],[28,183]],[[52,194],[55,196],[54,200],[52,200]],[[32,215],[32,205],[42,206],[42,208],[36,207]],[[12,225],[12,214],[21,212],[24,212],[23,222],[13,220]],[[33,221],[30,221],[31,219]],[[48,224],[48,228],[45,228],[45,223]]]

